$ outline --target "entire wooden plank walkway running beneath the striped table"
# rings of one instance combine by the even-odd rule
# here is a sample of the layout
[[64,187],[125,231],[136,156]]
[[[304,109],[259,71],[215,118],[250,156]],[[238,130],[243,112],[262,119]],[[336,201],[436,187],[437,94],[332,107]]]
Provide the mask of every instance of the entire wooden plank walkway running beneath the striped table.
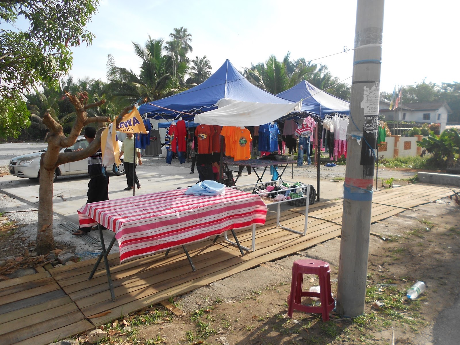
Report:
[[[380,221],[452,194],[449,187],[432,184],[380,190],[374,193],[371,220]],[[342,208],[343,200],[311,205],[306,236],[277,228],[275,213],[270,212],[265,225],[256,228],[256,251],[244,256],[223,239],[215,244],[206,240],[187,246],[196,272],[179,248],[168,257],[157,253],[124,264],[120,264],[118,253],[110,254],[115,302],[110,298],[103,264],[88,280],[95,259],[0,282],[0,344],[49,344],[328,241],[340,236]],[[282,211],[280,220],[281,224],[302,231],[305,207]],[[237,231],[237,236],[243,246],[250,245],[250,230]]]

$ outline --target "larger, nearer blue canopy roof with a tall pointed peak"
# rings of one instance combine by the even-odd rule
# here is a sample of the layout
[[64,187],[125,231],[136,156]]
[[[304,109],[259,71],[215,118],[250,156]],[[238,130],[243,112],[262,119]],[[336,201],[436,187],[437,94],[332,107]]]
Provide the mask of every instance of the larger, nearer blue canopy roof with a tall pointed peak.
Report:
[[200,85],[173,96],[142,104],[139,113],[149,119],[173,119],[178,116],[177,112],[184,112],[190,114],[182,114],[184,120],[193,120],[195,114],[217,109],[215,104],[221,98],[259,103],[292,103],[251,84],[227,59]]

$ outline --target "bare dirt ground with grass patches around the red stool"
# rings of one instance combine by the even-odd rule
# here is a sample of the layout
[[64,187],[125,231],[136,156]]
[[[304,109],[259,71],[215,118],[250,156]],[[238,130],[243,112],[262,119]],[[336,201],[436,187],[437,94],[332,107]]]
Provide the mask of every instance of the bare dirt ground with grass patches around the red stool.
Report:
[[[102,326],[109,336],[99,344],[456,344],[437,334],[436,322],[459,294],[458,211],[447,198],[371,226],[365,311],[357,318],[332,312],[330,321],[322,322],[317,314],[286,315],[290,268],[296,259],[328,261],[336,297],[337,238],[187,295],[171,296],[174,313],[155,305]],[[426,283],[426,291],[408,300],[406,291],[417,280]],[[315,276],[304,278],[304,290],[317,284]],[[76,339],[84,342],[86,335]]]

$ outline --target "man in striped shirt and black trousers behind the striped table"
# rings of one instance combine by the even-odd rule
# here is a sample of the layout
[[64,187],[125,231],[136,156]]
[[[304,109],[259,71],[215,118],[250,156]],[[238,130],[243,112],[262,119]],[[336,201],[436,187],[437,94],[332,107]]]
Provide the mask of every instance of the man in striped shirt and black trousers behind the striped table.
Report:
[[[96,137],[96,128],[86,127],[85,138],[88,143],[91,143]],[[81,150],[81,149],[79,149]],[[109,200],[109,174],[102,167],[102,151],[101,148],[92,156],[88,157],[88,200],[90,202]],[[72,235],[81,236],[91,231],[91,227],[78,228]]]

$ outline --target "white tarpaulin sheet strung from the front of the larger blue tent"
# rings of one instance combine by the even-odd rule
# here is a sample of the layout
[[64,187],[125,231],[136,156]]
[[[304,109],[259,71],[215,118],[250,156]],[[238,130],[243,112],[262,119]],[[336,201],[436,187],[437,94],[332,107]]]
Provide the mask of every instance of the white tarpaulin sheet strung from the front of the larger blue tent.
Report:
[[289,104],[254,103],[222,98],[217,102],[218,109],[195,115],[195,122],[203,125],[219,126],[261,126],[300,111],[302,101]]

